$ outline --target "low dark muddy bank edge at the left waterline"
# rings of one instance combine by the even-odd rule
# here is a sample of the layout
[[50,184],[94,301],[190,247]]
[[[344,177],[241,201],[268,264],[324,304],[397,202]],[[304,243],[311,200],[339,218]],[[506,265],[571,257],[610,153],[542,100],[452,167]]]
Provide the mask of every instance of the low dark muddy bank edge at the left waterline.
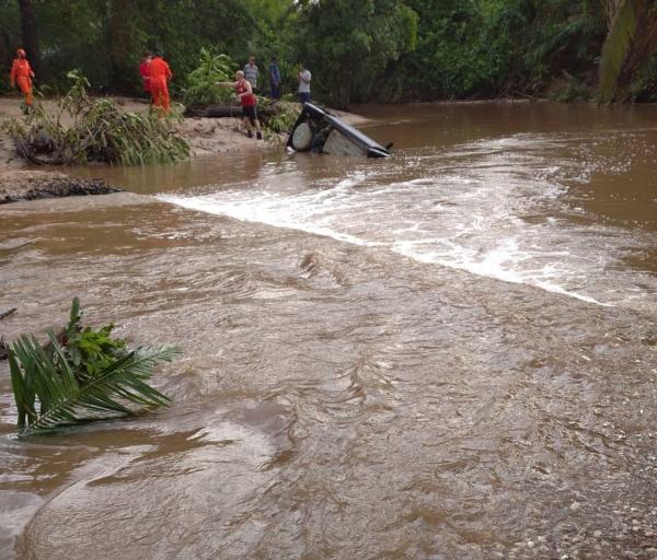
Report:
[[103,179],[81,179],[64,173],[27,170],[0,170],[0,205],[19,200],[108,195],[120,189]]

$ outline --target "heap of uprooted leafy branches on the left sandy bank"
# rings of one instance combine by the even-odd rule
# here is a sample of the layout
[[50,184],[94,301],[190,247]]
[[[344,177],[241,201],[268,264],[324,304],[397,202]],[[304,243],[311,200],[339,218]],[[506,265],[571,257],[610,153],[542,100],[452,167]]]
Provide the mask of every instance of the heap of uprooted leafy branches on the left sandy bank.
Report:
[[[124,112],[111,98],[92,100],[89,82],[69,72],[72,86],[50,112],[36,103],[24,120],[2,125],[18,152],[33,163],[73,164],[89,161],[137,165],[189,158],[189,144],[174,130],[180,116]],[[70,121],[66,125],[65,121]]]

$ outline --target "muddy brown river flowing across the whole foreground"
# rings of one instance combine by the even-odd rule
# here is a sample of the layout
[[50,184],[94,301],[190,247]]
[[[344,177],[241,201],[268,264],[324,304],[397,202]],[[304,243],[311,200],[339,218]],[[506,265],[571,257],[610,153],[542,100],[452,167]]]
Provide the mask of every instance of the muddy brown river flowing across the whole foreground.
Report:
[[395,155],[78,170],[0,208],[0,335],[184,354],[18,440],[7,559],[657,558],[657,107],[364,107]]

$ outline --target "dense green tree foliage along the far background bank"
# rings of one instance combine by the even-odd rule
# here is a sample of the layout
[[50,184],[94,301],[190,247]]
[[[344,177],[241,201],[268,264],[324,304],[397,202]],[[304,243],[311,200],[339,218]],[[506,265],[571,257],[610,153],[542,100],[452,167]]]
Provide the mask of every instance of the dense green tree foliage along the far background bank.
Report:
[[205,48],[240,66],[254,54],[263,74],[277,55],[288,93],[303,60],[313,95],[341,106],[591,98],[601,70],[603,98],[657,101],[653,0],[0,0],[5,69],[20,45],[56,89],[78,68],[136,92],[142,52],[161,49],[181,91]]

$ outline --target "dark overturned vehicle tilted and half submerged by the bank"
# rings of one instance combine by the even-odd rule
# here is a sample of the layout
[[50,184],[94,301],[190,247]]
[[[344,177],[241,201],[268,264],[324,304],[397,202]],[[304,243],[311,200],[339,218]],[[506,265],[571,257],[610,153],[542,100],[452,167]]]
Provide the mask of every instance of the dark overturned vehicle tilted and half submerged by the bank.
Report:
[[287,145],[297,152],[389,158],[392,143],[383,148],[360,130],[343,122],[327,110],[304,103],[303,110],[288,138]]

